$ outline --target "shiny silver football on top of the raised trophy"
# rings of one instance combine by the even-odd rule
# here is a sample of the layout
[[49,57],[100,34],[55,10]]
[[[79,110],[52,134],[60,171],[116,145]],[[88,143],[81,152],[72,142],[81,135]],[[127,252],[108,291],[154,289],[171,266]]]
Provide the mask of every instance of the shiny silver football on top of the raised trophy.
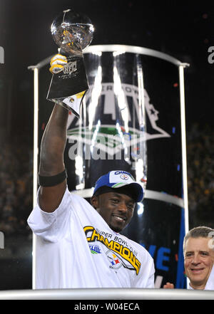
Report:
[[93,39],[93,25],[85,14],[64,10],[51,24],[51,33],[58,47],[67,53],[79,53]]

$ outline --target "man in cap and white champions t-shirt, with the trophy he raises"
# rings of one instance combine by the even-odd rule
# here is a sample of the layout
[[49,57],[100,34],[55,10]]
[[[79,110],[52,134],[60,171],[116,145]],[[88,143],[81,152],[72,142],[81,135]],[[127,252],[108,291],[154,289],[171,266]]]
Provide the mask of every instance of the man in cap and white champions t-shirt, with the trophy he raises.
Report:
[[103,174],[91,204],[68,191],[63,152],[68,111],[79,117],[88,89],[82,50],[93,26],[63,11],[51,26],[61,48],[51,60],[48,99],[56,103],[41,141],[38,204],[28,223],[36,234],[36,288],[154,288],[153,258],[119,234],[131,221],[143,188],[131,174]]

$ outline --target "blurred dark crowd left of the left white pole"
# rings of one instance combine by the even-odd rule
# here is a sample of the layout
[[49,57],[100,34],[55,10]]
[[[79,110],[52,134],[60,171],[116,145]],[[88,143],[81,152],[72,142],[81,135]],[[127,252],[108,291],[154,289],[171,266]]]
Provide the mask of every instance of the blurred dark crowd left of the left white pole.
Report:
[[13,138],[1,142],[0,231],[29,234],[26,219],[32,208],[33,151],[27,142]]

